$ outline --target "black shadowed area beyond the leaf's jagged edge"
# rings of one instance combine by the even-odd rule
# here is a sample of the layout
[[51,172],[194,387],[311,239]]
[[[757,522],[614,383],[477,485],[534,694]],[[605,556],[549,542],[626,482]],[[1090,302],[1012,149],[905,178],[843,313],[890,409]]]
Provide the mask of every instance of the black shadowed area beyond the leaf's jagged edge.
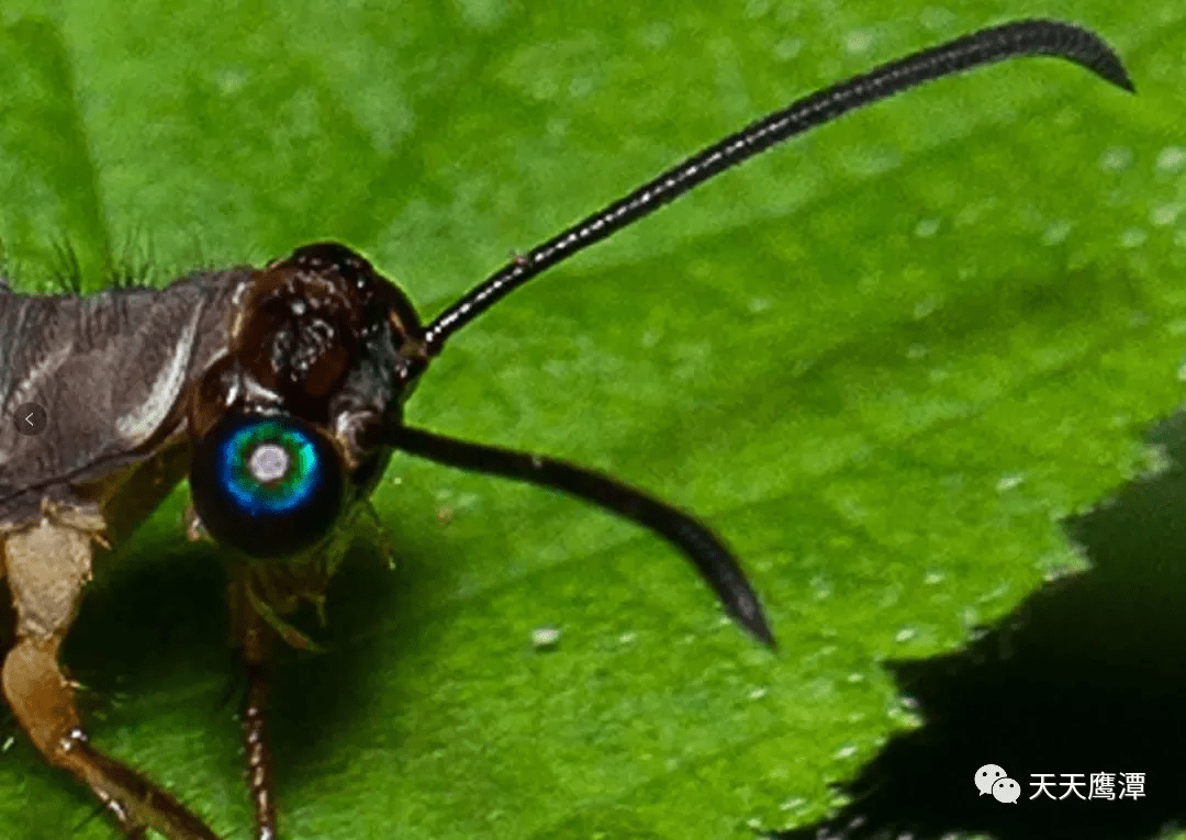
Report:
[[[808,838],[1000,840],[1150,838],[1186,821],[1186,418],[1152,435],[1173,460],[1067,523],[1092,567],[1027,599],[965,650],[890,663],[925,725],[894,738],[854,781],[853,801]],[[997,764],[1015,804],[973,778]],[[1065,774],[1143,772],[1144,796],[1079,800]],[[1051,800],[1038,776],[1053,774]],[[1088,787],[1082,789],[1084,796]]]

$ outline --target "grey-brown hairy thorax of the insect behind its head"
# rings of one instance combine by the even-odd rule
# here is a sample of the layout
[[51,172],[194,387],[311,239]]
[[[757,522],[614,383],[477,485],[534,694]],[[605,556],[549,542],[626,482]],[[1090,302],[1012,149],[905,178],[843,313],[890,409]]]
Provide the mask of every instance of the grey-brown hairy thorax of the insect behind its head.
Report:
[[[88,298],[0,291],[0,526],[27,520],[44,496],[144,459],[180,429],[178,400],[223,352],[248,276],[202,273]],[[30,402],[47,422],[23,435],[12,418]]]

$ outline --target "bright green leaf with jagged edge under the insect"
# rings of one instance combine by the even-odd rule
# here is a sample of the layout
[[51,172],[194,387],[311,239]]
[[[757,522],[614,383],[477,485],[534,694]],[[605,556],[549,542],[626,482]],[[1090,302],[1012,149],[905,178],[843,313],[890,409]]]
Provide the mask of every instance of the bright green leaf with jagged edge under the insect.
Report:
[[[0,241],[24,288],[339,238],[426,317],[793,97],[1006,19],[993,2],[9,2]],[[618,12],[618,14],[614,14]],[[459,335],[410,422],[569,458],[737,549],[772,655],[668,546],[575,502],[396,459],[281,656],[289,838],[745,838],[835,806],[913,725],[880,662],[958,647],[1080,561],[1058,520],[1180,399],[1182,13],[1064,4],[1136,98],[1051,61],[910,93],[766,154]],[[60,250],[60,248],[59,248]],[[94,742],[250,825],[217,551],[176,495],[66,647]],[[531,631],[561,630],[537,653]],[[17,732],[0,825],[109,838]]]

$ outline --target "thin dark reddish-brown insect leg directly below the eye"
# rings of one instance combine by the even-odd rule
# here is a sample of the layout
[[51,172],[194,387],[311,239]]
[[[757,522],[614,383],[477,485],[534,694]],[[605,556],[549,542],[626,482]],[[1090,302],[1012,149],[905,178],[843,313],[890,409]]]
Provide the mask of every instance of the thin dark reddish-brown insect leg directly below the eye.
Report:
[[251,606],[244,569],[230,588],[231,622],[235,644],[247,675],[247,700],[243,704],[243,752],[247,763],[247,787],[255,814],[256,840],[275,840],[276,800],[272,794],[272,755],[268,751],[267,700],[268,660],[273,629]]

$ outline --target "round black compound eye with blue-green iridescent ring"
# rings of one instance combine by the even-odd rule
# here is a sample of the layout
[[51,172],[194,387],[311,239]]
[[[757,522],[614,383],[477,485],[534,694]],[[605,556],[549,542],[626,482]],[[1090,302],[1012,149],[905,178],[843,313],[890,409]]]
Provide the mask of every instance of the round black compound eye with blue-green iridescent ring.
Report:
[[257,558],[317,545],[342,513],[345,466],[311,424],[225,414],[197,441],[193,507],[209,534]]

